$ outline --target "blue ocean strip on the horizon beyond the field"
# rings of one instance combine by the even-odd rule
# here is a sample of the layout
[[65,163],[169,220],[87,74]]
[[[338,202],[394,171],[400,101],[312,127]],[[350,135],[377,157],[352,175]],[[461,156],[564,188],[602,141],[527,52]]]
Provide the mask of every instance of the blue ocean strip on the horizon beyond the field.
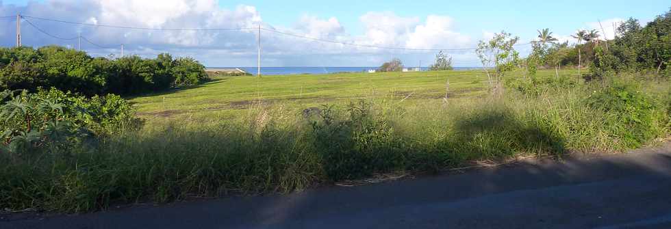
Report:
[[[208,68],[240,68],[245,72],[256,75],[256,67],[208,67]],[[414,68],[414,67],[409,67]],[[301,75],[301,74],[329,74],[337,72],[366,72],[377,67],[261,67],[261,75]],[[455,67],[455,70],[470,70],[470,67]],[[429,68],[422,68],[422,71]]]

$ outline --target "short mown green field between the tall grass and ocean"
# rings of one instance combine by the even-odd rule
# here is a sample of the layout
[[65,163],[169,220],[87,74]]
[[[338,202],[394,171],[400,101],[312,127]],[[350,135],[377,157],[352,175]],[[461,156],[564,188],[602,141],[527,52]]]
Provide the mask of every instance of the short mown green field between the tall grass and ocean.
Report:
[[[575,74],[575,70],[559,72],[560,76]],[[554,77],[555,71],[540,70],[537,75]],[[509,77],[522,77],[522,72]],[[227,118],[257,105],[303,109],[360,98],[405,99],[405,103],[412,104],[442,100],[446,93],[451,99],[472,98],[487,92],[487,82],[482,70],[215,77],[197,87],[140,96],[131,102],[138,107],[138,115],[149,122]]]

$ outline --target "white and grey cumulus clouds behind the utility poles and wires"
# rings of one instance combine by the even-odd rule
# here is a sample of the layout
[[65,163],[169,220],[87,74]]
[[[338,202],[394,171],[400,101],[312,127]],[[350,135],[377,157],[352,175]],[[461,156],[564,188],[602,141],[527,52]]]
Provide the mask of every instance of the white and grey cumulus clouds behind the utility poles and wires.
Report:
[[[406,55],[386,49],[338,44],[355,43],[372,46],[394,46],[409,49],[453,49],[472,46],[469,36],[455,31],[453,18],[430,15],[427,18],[398,16],[393,12],[368,12],[359,17],[364,32],[351,35],[338,18],[304,15],[288,27],[270,25],[251,5],[233,9],[220,8],[216,0],[46,0],[27,6],[6,5],[0,1],[0,16],[22,12],[26,16],[54,18],[92,25],[120,25],[153,29],[175,28],[255,28],[261,24],[301,34],[309,38],[330,40],[318,42],[295,36],[264,31],[263,56],[266,66],[296,65],[377,65],[394,55]],[[242,31],[159,31],[102,26],[73,25],[27,18],[54,36],[73,38],[77,34],[108,49],[99,49],[82,41],[82,47],[94,55],[118,55],[118,44],[125,44],[126,54],[144,57],[170,52],[193,56],[207,66],[253,66],[256,56],[257,30]],[[14,44],[14,21],[0,21],[0,42]],[[76,46],[76,40],[51,38],[23,23],[23,44],[42,46],[58,44]],[[327,54],[327,55],[325,55]],[[430,62],[435,53],[407,54],[410,58]],[[461,55],[459,53],[455,55]]]

